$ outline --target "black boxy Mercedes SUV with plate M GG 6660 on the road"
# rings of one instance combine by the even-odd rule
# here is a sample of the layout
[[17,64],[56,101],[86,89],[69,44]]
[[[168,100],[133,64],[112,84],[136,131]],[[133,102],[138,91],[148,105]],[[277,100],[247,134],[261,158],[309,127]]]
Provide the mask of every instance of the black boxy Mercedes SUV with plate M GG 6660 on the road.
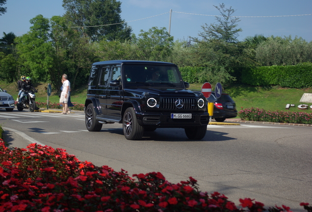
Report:
[[92,64],[85,125],[100,131],[103,124],[122,123],[129,140],[144,131],[183,128],[189,139],[206,135],[209,114],[200,91],[187,90],[177,65],[168,62],[112,60]]

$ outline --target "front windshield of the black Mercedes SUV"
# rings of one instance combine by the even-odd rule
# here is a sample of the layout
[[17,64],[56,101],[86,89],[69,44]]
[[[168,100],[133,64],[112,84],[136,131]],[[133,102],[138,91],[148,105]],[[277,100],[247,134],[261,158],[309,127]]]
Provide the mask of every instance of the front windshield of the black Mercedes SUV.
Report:
[[184,88],[176,66],[157,64],[124,64],[123,82],[126,87],[176,87]]

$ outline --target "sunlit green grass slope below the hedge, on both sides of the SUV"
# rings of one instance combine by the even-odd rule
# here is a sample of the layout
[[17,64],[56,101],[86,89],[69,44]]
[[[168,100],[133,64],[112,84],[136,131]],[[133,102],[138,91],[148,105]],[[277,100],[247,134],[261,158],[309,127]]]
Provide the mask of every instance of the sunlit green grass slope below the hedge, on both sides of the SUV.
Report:
[[[36,101],[46,102],[47,101],[47,87],[48,83],[39,83],[35,87],[39,90],[36,94]],[[7,90],[14,99],[17,98],[17,85],[16,83],[6,83],[0,81],[0,87]],[[202,84],[191,84],[190,89],[200,90]],[[72,92],[71,100],[72,102],[77,102],[84,104],[86,98],[87,85]],[[236,102],[236,107],[238,110],[243,108],[258,107],[264,110],[285,110],[286,104],[295,104],[295,107],[291,107],[289,111],[302,111],[302,112],[312,112],[311,109],[300,110],[298,105],[300,99],[304,93],[312,93],[312,88],[307,89],[295,89],[295,88],[279,88],[279,87],[255,87],[248,85],[236,84],[231,87],[227,87],[224,90],[225,93],[230,94],[233,100]],[[58,102],[58,94],[52,92],[49,97],[51,102]],[[306,103],[311,106],[312,103]]]

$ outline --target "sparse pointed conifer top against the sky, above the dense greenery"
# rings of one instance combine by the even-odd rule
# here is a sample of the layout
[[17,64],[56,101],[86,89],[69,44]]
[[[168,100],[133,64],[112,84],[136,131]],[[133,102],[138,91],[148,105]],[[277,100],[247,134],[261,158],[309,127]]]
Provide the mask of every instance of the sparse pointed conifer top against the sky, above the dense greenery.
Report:
[[241,28],[236,28],[236,23],[240,22],[240,20],[239,18],[232,18],[231,15],[235,12],[232,7],[226,9],[224,3],[219,4],[219,6],[220,7],[214,6],[221,14],[221,17],[215,16],[219,24],[210,24],[210,26],[205,24],[202,26],[204,31],[199,35],[203,37],[204,40],[219,40],[227,43],[235,43],[237,42],[238,32],[242,31]]

